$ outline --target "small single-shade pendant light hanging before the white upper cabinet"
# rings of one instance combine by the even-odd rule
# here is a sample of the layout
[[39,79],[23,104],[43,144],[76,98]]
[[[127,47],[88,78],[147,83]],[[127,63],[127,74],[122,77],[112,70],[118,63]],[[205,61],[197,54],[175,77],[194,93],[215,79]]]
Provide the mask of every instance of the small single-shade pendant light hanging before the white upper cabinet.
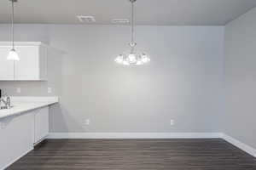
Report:
[[17,54],[15,50],[15,26],[14,26],[14,20],[15,20],[15,3],[17,3],[17,0],[9,0],[12,3],[12,48],[9,51],[9,55],[7,57],[8,60],[20,60],[19,55]]

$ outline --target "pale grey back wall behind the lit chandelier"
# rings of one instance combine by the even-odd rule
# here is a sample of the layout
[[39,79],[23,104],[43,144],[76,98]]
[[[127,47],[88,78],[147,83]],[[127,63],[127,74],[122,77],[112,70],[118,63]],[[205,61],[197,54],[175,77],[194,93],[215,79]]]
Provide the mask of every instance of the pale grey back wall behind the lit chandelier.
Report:
[[[0,41],[8,40],[7,29],[0,26]],[[151,62],[131,68],[113,62],[128,48],[127,26],[24,25],[17,30],[19,41],[42,40],[66,51],[62,90],[56,93],[61,107],[51,110],[52,132],[219,131],[224,27],[137,26],[137,48],[148,52]],[[0,82],[0,87],[13,95],[23,85],[21,95],[44,95],[43,83]],[[83,127],[86,118],[91,123]]]

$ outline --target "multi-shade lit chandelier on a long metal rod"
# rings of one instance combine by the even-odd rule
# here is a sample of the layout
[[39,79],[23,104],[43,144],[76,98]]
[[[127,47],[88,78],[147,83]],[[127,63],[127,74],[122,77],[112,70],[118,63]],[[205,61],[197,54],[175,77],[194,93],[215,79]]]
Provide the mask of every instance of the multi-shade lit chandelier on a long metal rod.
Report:
[[134,41],[134,3],[137,0],[129,0],[131,3],[131,42],[129,43],[129,53],[119,54],[114,61],[121,65],[143,65],[148,63],[150,59],[146,53],[137,53],[135,47],[137,43]]

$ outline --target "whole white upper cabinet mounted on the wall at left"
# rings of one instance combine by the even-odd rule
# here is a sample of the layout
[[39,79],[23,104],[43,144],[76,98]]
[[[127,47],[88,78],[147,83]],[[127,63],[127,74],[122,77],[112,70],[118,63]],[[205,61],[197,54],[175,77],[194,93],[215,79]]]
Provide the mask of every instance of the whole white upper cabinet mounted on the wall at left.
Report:
[[[5,45],[4,45],[5,44]],[[47,79],[47,50],[41,42],[16,42],[19,61],[6,59],[11,46],[0,42],[0,81],[44,81]]]

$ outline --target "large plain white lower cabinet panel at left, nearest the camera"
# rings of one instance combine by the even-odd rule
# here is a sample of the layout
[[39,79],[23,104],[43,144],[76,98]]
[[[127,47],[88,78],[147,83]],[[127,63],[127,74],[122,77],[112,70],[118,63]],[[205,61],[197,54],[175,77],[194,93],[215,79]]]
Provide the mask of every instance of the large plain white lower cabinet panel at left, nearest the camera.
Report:
[[30,113],[0,119],[0,169],[33,149],[33,125]]

